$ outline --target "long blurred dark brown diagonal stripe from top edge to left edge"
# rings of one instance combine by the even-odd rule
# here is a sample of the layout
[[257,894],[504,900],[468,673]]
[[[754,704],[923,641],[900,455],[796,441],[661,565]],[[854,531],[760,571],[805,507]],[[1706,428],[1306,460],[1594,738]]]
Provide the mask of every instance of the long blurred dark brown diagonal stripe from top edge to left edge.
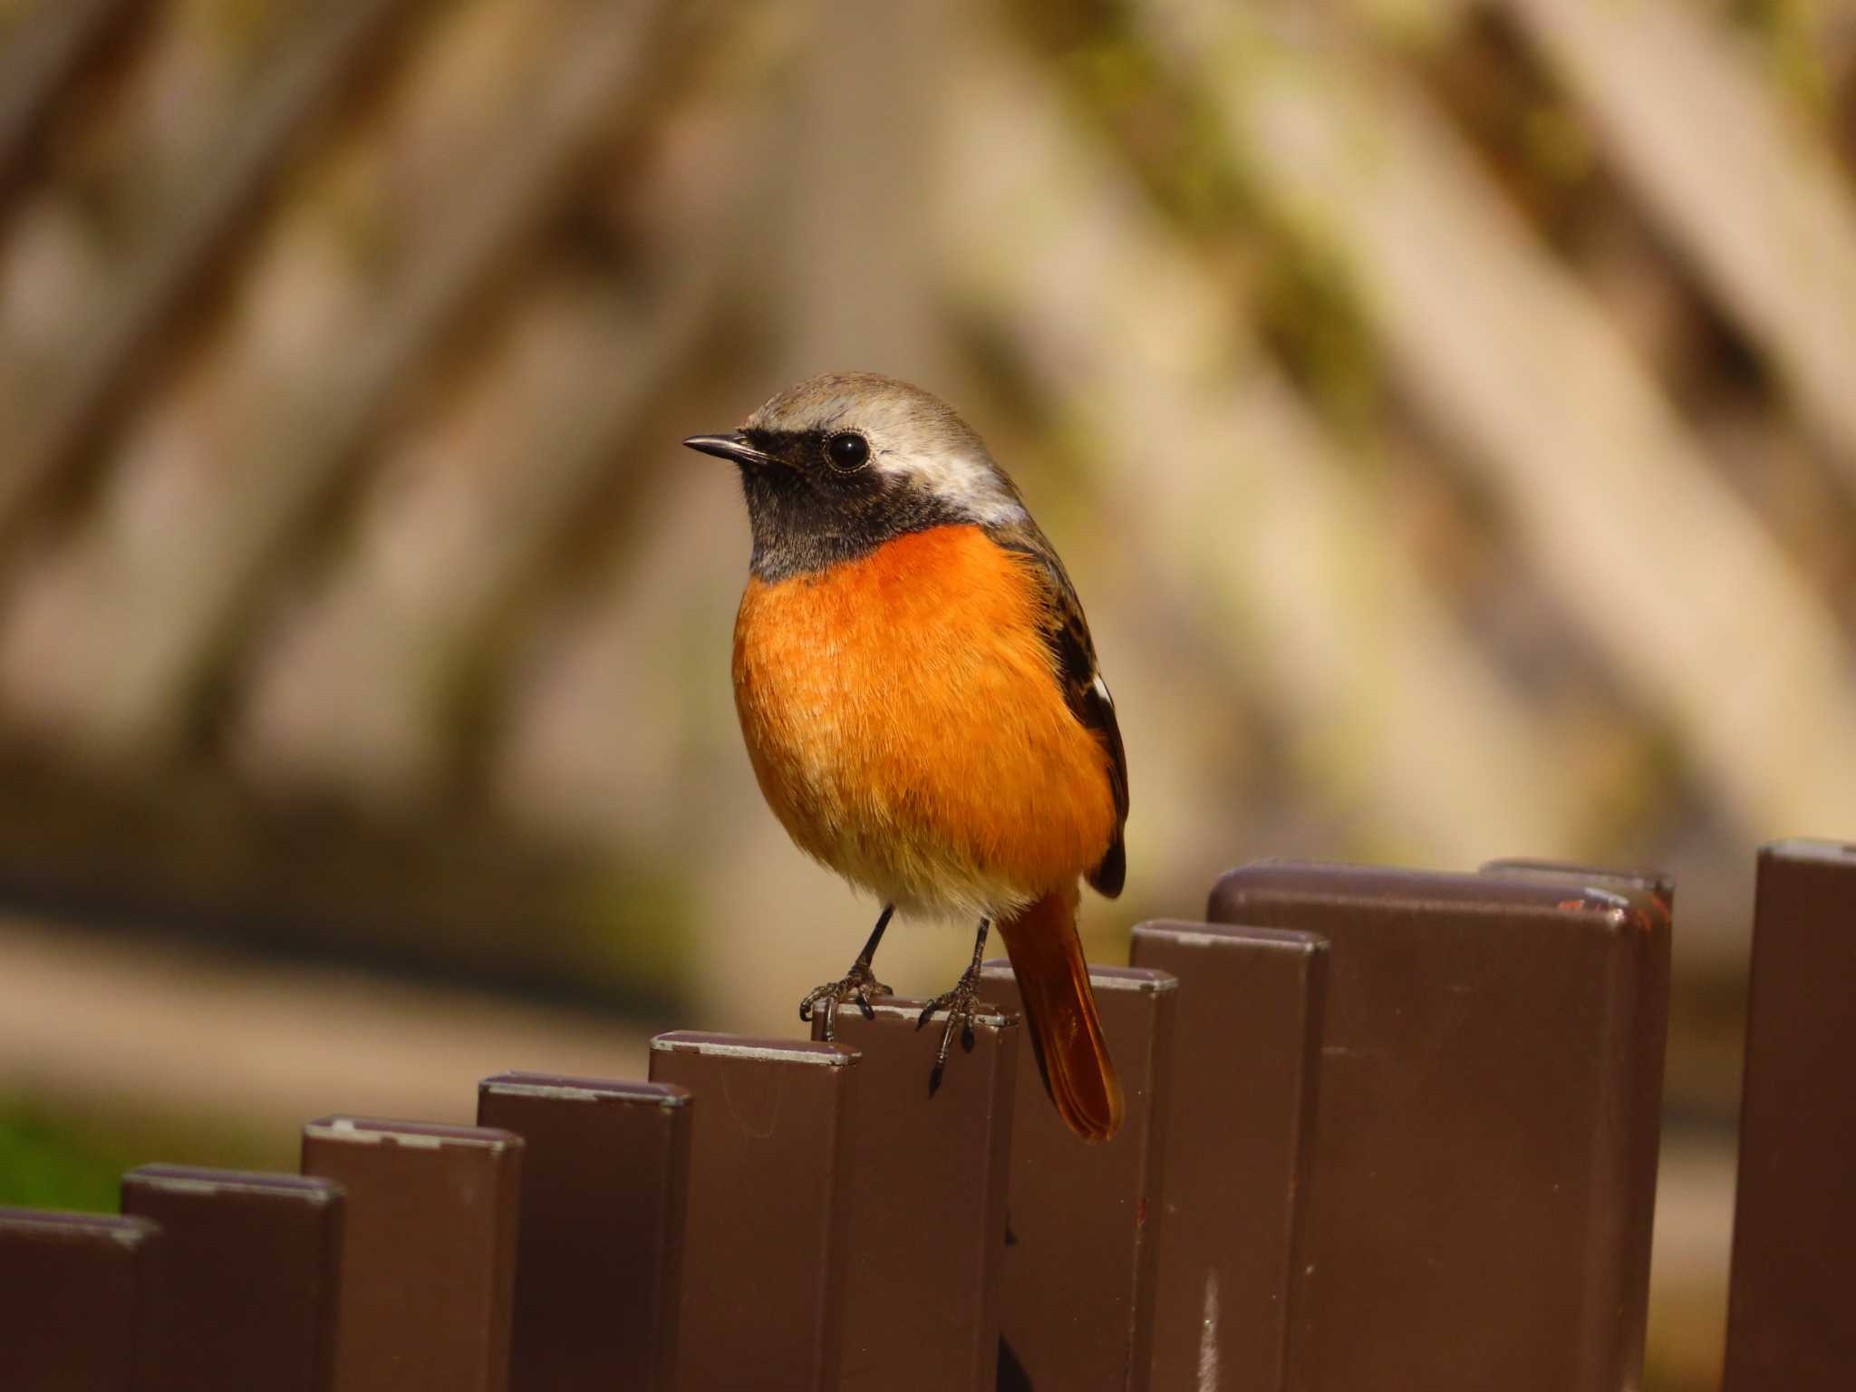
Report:
[[135,369],[202,282],[225,273],[225,252],[251,230],[290,173],[299,135],[362,80],[369,54],[379,54],[393,24],[421,4],[336,0],[284,46],[277,69],[200,152],[195,176],[165,221],[137,239],[115,290],[100,297],[104,317],[82,330],[87,343],[76,366],[28,406],[9,468],[0,471],[0,536],[19,525],[33,494],[121,414]]

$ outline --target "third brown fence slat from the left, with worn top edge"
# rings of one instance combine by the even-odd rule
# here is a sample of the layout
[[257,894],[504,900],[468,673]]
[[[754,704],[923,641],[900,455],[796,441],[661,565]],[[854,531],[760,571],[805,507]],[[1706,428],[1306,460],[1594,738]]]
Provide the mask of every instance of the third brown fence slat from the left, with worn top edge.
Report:
[[321,1117],[303,1173],[347,1190],[338,1392],[503,1392],[522,1138]]

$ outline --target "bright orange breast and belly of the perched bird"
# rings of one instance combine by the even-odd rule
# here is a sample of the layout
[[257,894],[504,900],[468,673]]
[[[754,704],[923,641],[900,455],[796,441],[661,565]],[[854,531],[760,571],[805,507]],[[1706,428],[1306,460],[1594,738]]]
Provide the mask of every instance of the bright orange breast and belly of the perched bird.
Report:
[[1069,711],[1036,579],[935,527],[776,585],[735,618],[735,709],[802,850],[904,909],[997,917],[1108,850],[1108,754]]

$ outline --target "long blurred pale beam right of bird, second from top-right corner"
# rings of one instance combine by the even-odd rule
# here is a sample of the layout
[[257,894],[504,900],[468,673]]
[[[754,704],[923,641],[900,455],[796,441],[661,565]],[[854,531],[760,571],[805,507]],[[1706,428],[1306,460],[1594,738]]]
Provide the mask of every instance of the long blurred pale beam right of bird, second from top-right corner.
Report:
[[[1746,830],[1856,822],[1852,659],[1591,297],[1394,72],[1320,33],[1173,0],[1136,11],[1232,156],[1344,267],[1388,367],[1620,677]],[[1308,19],[1308,17],[1303,17]]]

